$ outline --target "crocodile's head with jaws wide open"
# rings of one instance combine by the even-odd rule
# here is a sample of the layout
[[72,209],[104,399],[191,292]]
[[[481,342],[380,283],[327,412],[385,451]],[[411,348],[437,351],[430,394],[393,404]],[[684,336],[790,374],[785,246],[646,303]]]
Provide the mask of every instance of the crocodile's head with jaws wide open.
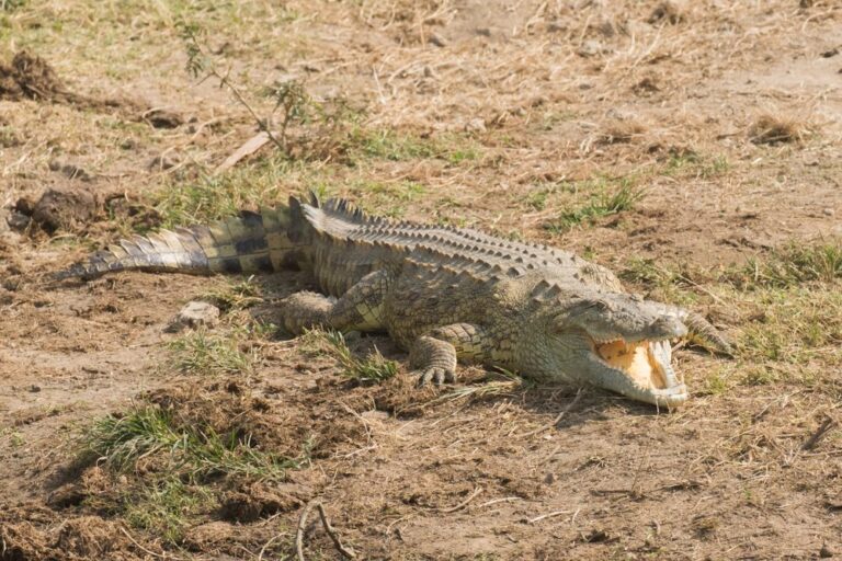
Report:
[[671,308],[622,293],[547,302],[542,370],[659,407],[687,399],[672,368],[671,340],[687,328]]

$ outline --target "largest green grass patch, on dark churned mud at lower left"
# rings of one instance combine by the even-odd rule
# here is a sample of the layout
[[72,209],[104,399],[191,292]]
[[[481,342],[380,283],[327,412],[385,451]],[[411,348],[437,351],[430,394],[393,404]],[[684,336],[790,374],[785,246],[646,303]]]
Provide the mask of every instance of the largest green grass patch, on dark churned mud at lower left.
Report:
[[132,476],[118,499],[104,499],[132,526],[179,543],[197,515],[218,506],[220,479],[283,481],[307,456],[286,458],[253,446],[232,428],[218,434],[202,423],[185,423],[155,405],[124,415],[107,415],[86,426],[78,442],[79,459],[96,461],[114,473]]

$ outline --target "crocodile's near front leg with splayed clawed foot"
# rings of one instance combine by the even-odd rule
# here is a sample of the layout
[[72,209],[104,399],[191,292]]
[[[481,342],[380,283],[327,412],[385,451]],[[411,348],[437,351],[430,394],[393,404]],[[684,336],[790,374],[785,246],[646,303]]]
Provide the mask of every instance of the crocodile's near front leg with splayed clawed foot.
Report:
[[409,365],[418,386],[456,380],[456,363],[482,362],[489,354],[485,330],[473,323],[452,323],[418,337],[409,350]]

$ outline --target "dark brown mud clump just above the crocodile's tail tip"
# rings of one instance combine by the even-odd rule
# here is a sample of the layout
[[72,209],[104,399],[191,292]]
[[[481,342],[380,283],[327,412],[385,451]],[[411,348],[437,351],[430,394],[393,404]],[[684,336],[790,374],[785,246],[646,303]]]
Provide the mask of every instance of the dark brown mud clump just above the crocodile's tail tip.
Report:
[[92,221],[102,205],[102,198],[87,190],[50,188],[33,206],[32,219],[49,233],[72,230]]

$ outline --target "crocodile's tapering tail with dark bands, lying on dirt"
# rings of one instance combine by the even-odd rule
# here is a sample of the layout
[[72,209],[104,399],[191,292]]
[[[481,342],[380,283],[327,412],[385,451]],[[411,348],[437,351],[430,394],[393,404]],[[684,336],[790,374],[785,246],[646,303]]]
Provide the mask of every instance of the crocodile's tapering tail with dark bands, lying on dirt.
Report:
[[[292,201],[292,199],[291,199]],[[55,279],[94,278],[118,271],[174,272],[195,275],[257,273],[289,268],[300,244],[291,240],[291,207],[243,211],[209,226],[133,236],[56,273]]]

